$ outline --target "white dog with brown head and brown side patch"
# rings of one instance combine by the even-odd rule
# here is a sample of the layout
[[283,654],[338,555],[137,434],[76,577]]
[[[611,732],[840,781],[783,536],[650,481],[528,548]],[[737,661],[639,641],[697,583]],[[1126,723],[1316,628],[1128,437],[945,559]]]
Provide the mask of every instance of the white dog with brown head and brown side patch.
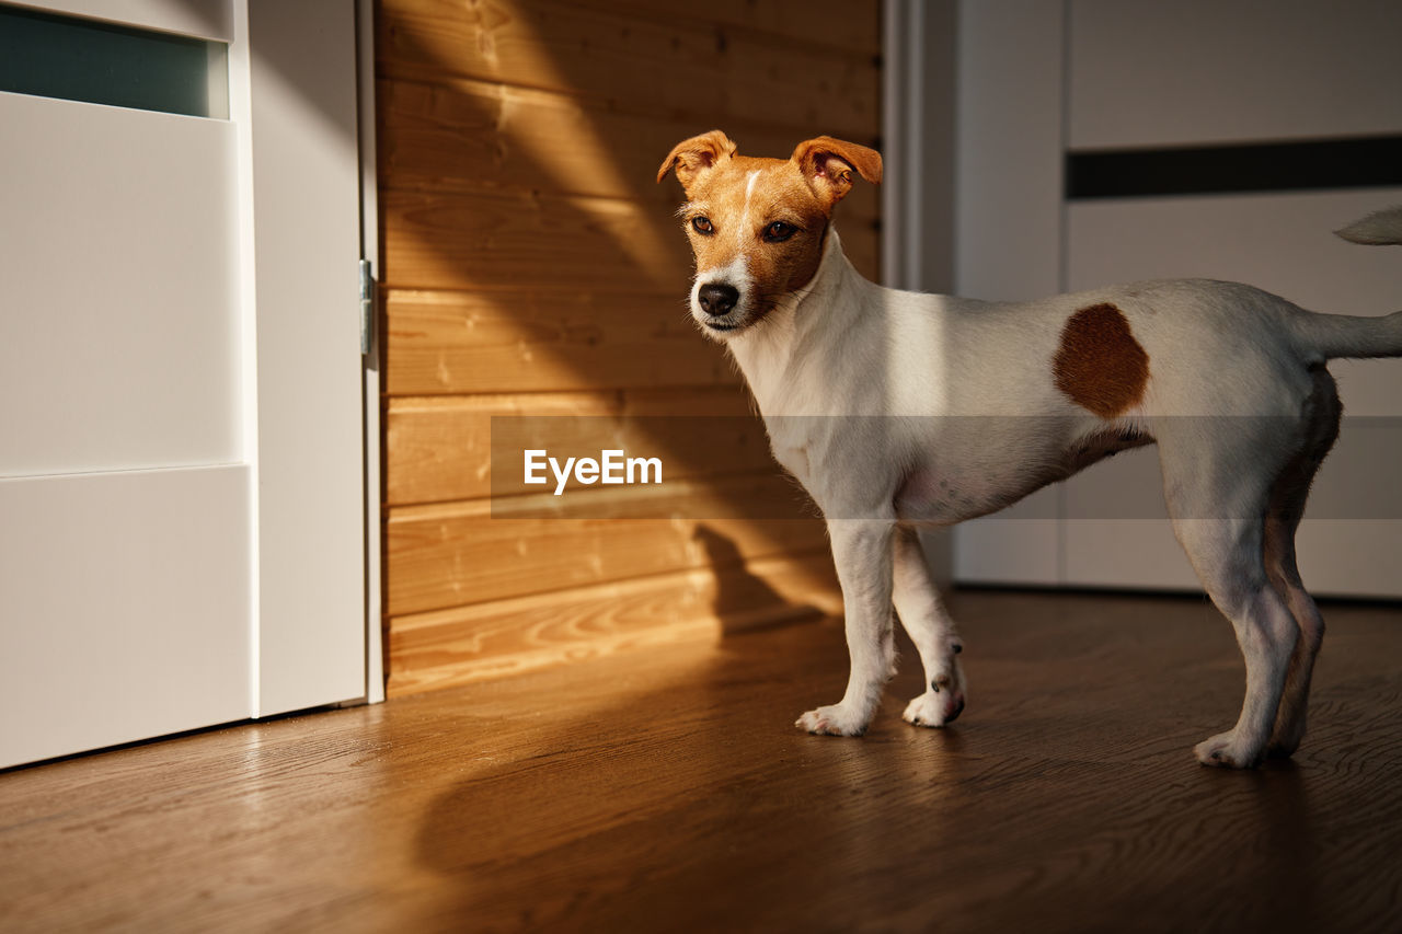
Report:
[[[927,684],[904,719],[952,722],[963,641],[916,530],[1158,445],[1173,532],[1246,662],[1237,725],[1197,760],[1249,769],[1295,750],[1323,620],[1294,533],[1342,411],[1326,363],[1402,355],[1402,311],[1315,314],[1202,279],[1026,303],[897,292],[862,278],[833,227],[854,174],[880,181],[875,150],[819,136],[756,158],[712,130],[679,143],[658,181],[672,171],[695,255],[691,317],[739,365],[831,540],[851,676],[796,726],[865,732],[894,673],[893,609]],[[1402,209],[1340,234],[1402,243]]]

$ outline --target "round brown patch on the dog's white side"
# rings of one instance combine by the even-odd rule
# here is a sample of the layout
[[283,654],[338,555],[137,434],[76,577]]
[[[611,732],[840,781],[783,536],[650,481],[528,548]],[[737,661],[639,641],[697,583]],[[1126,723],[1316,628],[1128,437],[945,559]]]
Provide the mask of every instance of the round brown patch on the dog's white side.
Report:
[[1061,328],[1053,362],[1056,386],[1073,402],[1101,418],[1134,407],[1148,383],[1148,353],[1113,304],[1081,309]]

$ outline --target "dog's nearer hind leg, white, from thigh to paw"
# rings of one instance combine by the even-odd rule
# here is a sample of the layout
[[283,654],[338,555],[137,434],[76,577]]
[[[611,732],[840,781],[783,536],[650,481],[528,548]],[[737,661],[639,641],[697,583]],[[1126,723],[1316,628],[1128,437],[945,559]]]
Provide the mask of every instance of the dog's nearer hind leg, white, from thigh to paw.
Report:
[[[1241,419],[1230,419],[1232,422]],[[1246,419],[1249,421],[1249,419]],[[1266,505],[1279,474],[1272,445],[1256,432],[1223,425],[1211,439],[1159,436],[1164,489],[1173,534],[1217,609],[1231,620],[1246,661],[1246,698],[1237,725],[1196,746],[1204,766],[1252,769],[1276,722],[1298,627],[1263,560]],[[1244,470],[1244,464],[1253,464]],[[1259,466],[1270,466],[1262,475]]]

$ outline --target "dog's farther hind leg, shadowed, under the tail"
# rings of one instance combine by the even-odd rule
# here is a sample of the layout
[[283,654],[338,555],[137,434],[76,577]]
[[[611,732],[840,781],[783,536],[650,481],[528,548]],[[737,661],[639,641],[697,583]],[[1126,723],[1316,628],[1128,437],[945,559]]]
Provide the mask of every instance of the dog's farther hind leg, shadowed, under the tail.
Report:
[[1266,513],[1266,574],[1300,627],[1300,639],[1290,656],[1276,725],[1266,746],[1267,756],[1290,756],[1300,746],[1309,704],[1309,676],[1323,642],[1323,617],[1301,583],[1300,568],[1295,567],[1295,530],[1305,512],[1309,484],[1339,436],[1342,405],[1328,370],[1316,369],[1314,380],[1315,388],[1305,402],[1304,412],[1309,432],[1308,442],[1276,480],[1270,491],[1270,510]]

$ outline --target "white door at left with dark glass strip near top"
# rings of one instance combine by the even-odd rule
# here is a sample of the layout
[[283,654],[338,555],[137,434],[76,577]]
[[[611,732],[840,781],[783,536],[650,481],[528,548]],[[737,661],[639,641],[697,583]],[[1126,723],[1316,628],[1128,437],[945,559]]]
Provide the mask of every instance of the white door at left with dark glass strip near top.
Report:
[[[241,0],[98,13],[227,45],[229,119],[0,91],[0,767],[365,694],[353,8],[306,6],[308,94]],[[336,80],[349,149],[255,172],[255,114],[275,140]],[[289,227],[296,307],[255,266]]]

